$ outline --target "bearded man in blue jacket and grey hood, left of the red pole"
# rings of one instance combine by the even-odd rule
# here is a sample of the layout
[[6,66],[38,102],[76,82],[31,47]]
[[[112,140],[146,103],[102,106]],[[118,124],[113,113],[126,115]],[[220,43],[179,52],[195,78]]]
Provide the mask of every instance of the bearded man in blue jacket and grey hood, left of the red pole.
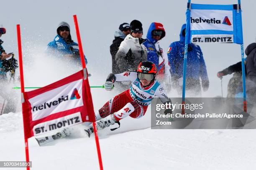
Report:
[[[64,56],[67,60],[80,62],[79,47],[71,38],[69,24],[61,22],[57,28],[57,34],[54,40],[47,45],[47,51],[54,55]],[[84,59],[87,64],[85,56]]]

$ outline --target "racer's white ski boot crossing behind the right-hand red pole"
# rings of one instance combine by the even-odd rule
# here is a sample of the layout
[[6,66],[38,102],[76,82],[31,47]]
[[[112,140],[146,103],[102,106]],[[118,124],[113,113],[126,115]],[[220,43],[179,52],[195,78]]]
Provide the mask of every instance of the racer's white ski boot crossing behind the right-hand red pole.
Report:
[[[114,115],[108,115],[105,118],[102,118],[101,120],[98,120],[96,122],[96,128],[97,130],[102,130],[104,128],[109,127],[110,125],[114,125],[117,121],[115,120]],[[93,133],[93,125],[91,124],[88,129],[84,130],[88,137],[90,138],[90,135]]]

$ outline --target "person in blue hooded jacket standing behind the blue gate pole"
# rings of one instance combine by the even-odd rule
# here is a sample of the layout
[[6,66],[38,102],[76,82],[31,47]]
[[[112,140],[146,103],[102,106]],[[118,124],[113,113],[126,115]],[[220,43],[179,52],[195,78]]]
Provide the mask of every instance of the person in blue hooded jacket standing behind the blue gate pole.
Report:
[[[179,94],[182,92],[185,33],[186,24],[182,25],[179,34],[180,40],[172,42],[167,52],[171,67],[172,85]],[[194,95],[201,95],[200,78],[203,90],[207,91],[209,79],[201,48],[195,44],[188,44],[186,90]]]

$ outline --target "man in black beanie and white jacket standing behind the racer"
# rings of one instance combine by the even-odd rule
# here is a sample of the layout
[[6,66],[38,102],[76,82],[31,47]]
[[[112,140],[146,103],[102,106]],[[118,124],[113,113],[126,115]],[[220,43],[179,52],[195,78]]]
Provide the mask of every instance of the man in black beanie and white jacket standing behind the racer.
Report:
[[[118,52],[115,55],[115,62],[118,66],[118,72],[125,71],[136,72],[137,66],[141,61],[147,60],[147,50],[141,46],[145,40],[142,39],[142,24],[138,20],[131,22],[131,34],[128,34],[121,42]],[[122,82],[120,90],[127,90],[131,83]]]

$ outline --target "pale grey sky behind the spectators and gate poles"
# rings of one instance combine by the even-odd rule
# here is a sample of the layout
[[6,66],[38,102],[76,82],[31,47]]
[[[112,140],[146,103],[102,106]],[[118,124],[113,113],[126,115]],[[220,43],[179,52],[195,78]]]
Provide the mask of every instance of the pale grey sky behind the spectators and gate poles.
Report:
[[[192,0],[192,3],[204,4],[235,4],[236,0]],[[161,46],[167,51],[169,45],[179,40],[181,25],[185,23],[186,0],[130,0],[120,2],[118,0],[95,0],[95,1],[67,1],[67,0],[44,0],[33,1],[8,0],[4,2],[1,9],[2,24],[7,32],[1,37],[4,41],[3,47],[6,52],[14,52],[18,58],[16,24],[20,24],[25,64],[25,80],[35,80],[36,77],[51,77],[52,72],[57,73],[56,66],[61,67],[58,62],[48,64],[41,55],[46,45],[56,36],[57,25],[66,21],[71,27],[72,39],[77,42],[74,29],[73,15],[77,15],[84,53],[88,59],[88,70],[95,76],[96,81],[104,83],[105,77],[111,71],[111,55],[109,46],[114,39],[114,32],[118,30],[121,23],[130,23],[132,20],[140,20],[143,24],[143,37],[152,22],[164,25],[166,36],[160,41]],[[255,23],[251,17],[255,13],[255,1],[241,0],[243,19],[244,47],[255,42]],[[253,15],[254,16],[254,15]],[[210,88],[203,96],[213,97],[221,95],[220,79],[217,72],[229,65],[241,60],[241,48],[237,44],[199,44],[207,66],[210,80]],[[33,62],[28,62],[33,60]],[[38,62],[38,64],[36,64]],[[104,64],[102,64],[104,63]],[[41,70],[37,75],[30,68],[36,67]],[[27,73],[26,73],[27,72]],[[42,74],[42,75],[41,75]],[[29,76],[29,77],[26,77]],[[33,78],[32,78],[33,77]],[[104,77],[104,78],[103,78]],[[224,96],[229,76],[223,79]],[[58,80],[58,76],[49,80]],[[97,84],[97,82],[93,82]],[[33,83],[31,82],[31,85]],[[91,83],[92,84],[92,83]],[[26,82],[25,82],[26,85]],[[40,83],[37,85],[40,85]],[[217,90],[218,89],[218,90]]]

